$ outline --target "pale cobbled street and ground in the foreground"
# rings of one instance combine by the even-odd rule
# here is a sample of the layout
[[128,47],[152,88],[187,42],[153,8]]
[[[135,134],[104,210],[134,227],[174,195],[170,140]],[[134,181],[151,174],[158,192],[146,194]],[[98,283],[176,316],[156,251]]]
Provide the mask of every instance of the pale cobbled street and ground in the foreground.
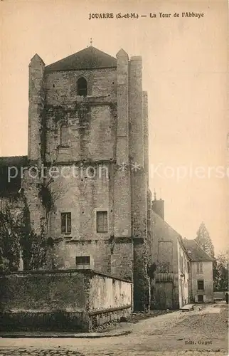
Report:
[[228,305],[196,305],[156,318],[124,323],[132,333],[97,339],[2,338],[0,356],[211,356],[228,355]]

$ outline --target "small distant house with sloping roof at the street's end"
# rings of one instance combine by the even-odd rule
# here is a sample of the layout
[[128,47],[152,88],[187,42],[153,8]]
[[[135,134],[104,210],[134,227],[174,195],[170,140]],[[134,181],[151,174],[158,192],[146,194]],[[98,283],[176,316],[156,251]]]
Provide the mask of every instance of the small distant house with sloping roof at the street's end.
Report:
[[213,261],[194,240],[183,239],[191,261],[191,301],[195,303],[213,302]]

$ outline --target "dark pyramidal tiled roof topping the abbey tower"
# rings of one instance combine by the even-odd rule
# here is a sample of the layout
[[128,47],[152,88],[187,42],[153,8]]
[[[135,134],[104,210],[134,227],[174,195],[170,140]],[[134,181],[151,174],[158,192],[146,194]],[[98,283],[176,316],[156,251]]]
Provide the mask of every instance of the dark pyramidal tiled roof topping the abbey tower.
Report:
[[90,68],[113,68],[117,67],[115,57],[100,51],[95,47],[87,47],[71,56],[46,66],[46,72],[58,70],[79,70]]

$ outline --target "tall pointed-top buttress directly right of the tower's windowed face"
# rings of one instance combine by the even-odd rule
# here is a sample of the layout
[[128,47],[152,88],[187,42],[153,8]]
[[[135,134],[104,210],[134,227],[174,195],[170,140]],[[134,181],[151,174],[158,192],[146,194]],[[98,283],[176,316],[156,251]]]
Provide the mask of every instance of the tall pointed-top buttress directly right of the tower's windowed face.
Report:
[[[117,53],[117,127],[116,162],[114,172],[114,234],[115,238],[130,237],[131,186],[129,167],[129,115],[128,115],[128,56],[123,50]],[[123,165],[124,169],[122,169]]]

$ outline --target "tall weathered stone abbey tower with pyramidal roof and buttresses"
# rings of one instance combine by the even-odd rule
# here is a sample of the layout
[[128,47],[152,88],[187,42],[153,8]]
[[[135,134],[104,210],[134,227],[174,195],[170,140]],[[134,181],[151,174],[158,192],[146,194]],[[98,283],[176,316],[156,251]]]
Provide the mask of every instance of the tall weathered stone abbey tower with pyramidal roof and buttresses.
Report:
[[[48,216],[55,268],[134,281],[135,310],[150,299],[148,146],[141,57],[93,46],[49,66],[33,56],[28,167],[40,175],[28,169],[21,184],[33,227],[39,232]],[[55,172],[43,185],[41,167]]]

